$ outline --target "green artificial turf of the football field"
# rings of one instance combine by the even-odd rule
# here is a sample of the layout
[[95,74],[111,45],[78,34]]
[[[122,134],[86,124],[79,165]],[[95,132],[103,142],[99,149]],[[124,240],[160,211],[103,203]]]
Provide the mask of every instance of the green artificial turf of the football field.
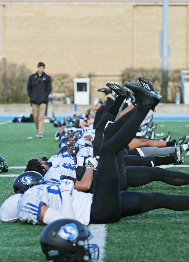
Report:
[[[189,135],[189,122],[156,122],[156,132],[172,131],[172,139]],[[163,125],[163,126],[161,126]],[[35,138],[33,123],[7,123],[0,125],[1,150],[9,167],[26,166],[29,159],[50,157],[58,151],[54,134],[57,128],[45,124],[44,139]],[[33,137],[27,139],[27,137]],[[161,137],[156,137],[161,138]],[[184,164],[189,165],[189,156]],[[188,172],[187,167],[173,167]],[[24,169],[9,169],[8,173],[20,174]],[[13,194],[15,177],[0,177],[0,205]],[[153,182],[130,188],[140,192],[164,192],[168,194],[189,194],[189,185],[180,187]],[[39,236],[44,226],[0,222],[0,261],[44,261]],[[166,209],[121,219],[106,226],[104,261],[188,261],[189,254],[189,211],[177,212]],[[98,234],[98,231],[96,232]]]

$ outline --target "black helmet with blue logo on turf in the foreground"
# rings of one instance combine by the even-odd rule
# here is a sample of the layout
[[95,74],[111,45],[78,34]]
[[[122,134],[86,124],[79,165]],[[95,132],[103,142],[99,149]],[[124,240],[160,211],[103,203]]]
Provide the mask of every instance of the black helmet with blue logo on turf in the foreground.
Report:
[[97,261],[99,248],[89,244],[91,238],[80,222],[59,219],[44,228],[39,241],[47,261]]

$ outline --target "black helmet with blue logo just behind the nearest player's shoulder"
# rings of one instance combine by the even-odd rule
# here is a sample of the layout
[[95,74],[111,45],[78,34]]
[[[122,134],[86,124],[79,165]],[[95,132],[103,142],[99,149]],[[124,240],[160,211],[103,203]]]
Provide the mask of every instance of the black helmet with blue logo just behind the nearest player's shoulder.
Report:
[[15,193],[18,193],[21,188],[28,190],[34,185],[46,184],[48,181],[44,180],[44,177],[35,171],[26,171],[21,173],[15,178],[13,183],[13,189]]

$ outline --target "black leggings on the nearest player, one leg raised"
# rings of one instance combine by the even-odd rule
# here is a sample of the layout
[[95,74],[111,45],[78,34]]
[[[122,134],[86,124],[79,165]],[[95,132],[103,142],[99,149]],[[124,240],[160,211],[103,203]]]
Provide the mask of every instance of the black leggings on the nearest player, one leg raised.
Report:
[[[136,215],[157,208],[189,209],[189,196],[185,195],[120,192],[116,155],[133,139],[135,132],[150,109],[151,105],[139,105],[135,114],[129,118],[122,128],[109,141],[103,141],[94,181],[90,223],[113,223],[121,217]],[[127,135],[125,135],[126,130]]]

